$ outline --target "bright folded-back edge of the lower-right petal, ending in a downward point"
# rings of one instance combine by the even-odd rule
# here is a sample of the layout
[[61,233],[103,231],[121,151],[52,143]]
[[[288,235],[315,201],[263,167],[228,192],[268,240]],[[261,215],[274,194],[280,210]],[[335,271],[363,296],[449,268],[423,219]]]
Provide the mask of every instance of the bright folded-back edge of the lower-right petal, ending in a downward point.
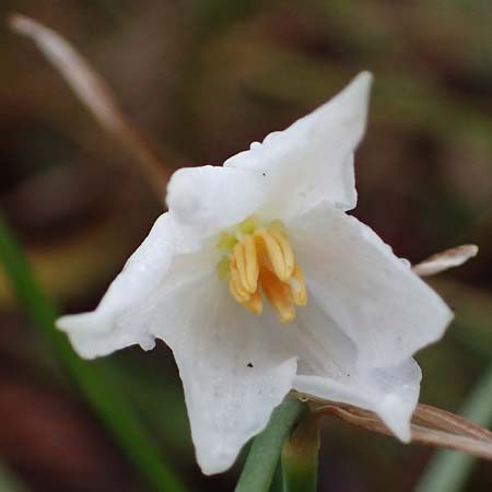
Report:
[[341,375],[298,375],[301,393],[371,410],[401,441],[410,441],[410,421],[420,393],[421,372],[412,359],[394,367],[354,368]]

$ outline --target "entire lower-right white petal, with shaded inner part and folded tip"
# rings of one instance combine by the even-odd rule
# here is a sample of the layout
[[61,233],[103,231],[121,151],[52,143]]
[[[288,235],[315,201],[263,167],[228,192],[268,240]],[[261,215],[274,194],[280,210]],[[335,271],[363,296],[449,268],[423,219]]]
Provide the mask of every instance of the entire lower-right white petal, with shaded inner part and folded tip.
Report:
[[413,361],[397,367],[360,368],[354,343],[316,300],[298,309],[298,376],[294,389],[373,410],[402,441],[419,397],[420,370]]

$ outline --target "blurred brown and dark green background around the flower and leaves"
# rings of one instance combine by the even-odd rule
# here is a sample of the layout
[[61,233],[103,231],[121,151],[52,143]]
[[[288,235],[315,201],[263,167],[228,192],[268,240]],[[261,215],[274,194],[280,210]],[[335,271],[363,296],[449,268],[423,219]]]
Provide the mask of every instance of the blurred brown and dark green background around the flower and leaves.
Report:
[[[0,207],[45,290],[63,312],[79,312],[96,305],[162,203],[33,43],[9,32],[11,12],[56,30],[91,60],[162,150],[167,174],[221,164],[360,70],[374,72],[355,215],[412,262],[461,243],[481,248],[435,281],[457,320],[418,358],[421,401],[459,410],[492,363],[490,1],[2,0]],[[0,324],[0,491],[150,491],[4,274]],[[189,490],[233,490],[239,467],[206,478],[195,464],[164,344],[93,365]],[[320,491],[411,491],[432,453],[335,420],[324,434]],[[477,462],[460,490],[492,490],[492,466]]]

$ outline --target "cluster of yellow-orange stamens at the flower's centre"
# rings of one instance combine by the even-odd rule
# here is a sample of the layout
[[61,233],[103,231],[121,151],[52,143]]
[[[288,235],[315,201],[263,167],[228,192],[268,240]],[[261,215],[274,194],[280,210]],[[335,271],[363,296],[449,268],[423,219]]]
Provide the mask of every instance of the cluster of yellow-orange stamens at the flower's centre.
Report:
[[265,295],[286,324],[295,318],[296,306],[307,304],[304,274],[280,221],[262,225],[250,216],[233,233],[223,233],[218,247],[225,253],[218,276],[229,279],[231,294],[248,312],[260,315]]

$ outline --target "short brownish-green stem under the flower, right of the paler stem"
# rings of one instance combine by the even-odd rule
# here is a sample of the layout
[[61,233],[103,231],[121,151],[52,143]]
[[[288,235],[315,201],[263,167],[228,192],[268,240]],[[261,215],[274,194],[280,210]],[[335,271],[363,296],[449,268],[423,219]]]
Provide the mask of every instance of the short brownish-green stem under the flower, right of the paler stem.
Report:
[[308,413],[282,449],[284,492],[316,492],[318,483],[320,415]]

